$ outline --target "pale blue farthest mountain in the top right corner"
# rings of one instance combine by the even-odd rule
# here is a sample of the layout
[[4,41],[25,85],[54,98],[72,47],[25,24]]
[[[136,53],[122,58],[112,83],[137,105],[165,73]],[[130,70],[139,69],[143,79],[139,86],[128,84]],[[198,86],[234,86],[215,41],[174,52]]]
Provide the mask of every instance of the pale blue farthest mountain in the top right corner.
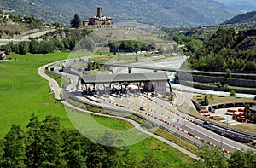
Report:
[[251,12],[256,9],[255,0],[217,0],[219,3],[224,3],[225,6],[239,10],[242,13]]

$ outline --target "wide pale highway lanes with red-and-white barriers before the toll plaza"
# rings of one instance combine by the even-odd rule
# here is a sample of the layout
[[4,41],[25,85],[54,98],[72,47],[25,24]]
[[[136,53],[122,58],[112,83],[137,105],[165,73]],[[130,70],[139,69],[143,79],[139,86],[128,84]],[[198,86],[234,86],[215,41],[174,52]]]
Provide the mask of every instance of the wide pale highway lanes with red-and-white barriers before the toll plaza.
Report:
[[[170,105],[166,101],[162,101],[158,97],[154,97],[154,101],[148,100],[149,96],[130,96],[130,98],[106,98],[100,99],[101,104],[107,104],[109,102],[114,103],[113,107],[119,110],[125,108],[125,110],[131,110],[142,115],[144,118],[152,121],[156,125],[161,125],[167,130],[177,133],[180,136],[201,145],[202,141],[211,142],[213,145],[222,147],[229,152],[234,152],[239,149],[252,149],[246,145],[232,141],[224,136],[218,135],[210,130],[207,130],[195,123],[189,121],[189,116],[183,116],[183,113],[177,111],[176,106]],[[153,100],[152,99],[152,100]],[[141,101],[144,103],[145,111],[139,111],[139,107],[142,106]],[[115,106],[118,104],[119,106]],[[124,106],[124,107],[121,107]],[[148,115],[149,114],[149,115]],[[186,119],[184,119],[184,117]],[[178,121],[177,121],[178,120]],[[194,119],[194,121],[196,121]],[[167,122],[167,124],[166,124]],[[175,125],[176,127],[173,127]],[[190,134],[186,133],[188,131]]]

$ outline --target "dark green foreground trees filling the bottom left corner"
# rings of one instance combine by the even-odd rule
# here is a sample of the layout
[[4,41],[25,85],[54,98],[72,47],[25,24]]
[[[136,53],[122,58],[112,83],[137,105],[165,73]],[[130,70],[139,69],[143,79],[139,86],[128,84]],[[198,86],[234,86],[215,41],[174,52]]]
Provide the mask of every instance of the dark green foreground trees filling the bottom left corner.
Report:
[[39,121],[32,114],[26,130],[12,125],[0,140],[0,167],[168,167],[152,152],[138,160],[127,148],[111,147],[117,142],[113,137],[120,139],[117,135],[109,138],[111,134],[99,137],[99,142],[109,144],[103,146],[77,130],[61,129],[56,117]]

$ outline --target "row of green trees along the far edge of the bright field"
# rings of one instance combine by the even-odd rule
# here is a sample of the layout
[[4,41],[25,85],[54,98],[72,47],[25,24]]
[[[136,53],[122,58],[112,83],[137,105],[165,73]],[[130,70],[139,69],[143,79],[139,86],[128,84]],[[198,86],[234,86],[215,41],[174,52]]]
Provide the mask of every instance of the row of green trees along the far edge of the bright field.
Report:
[[43,38],[31,38],[29,41],[22,41],[16,44],[9,42],[1,46],[0,49],[5,51],[6,55],[12,52],[25,55],[27,52],[32,54],[48,54],[55,51],[71,51],[79,42],[80,45],[84,44],[88,49],[94,48],[95,43],[92,40],[89,40],[89,38],[83,39],[90,31],[71,32],[65,29],[55,33],[58,35],[63,33],[65,34],[65,38],[56,38],[55,34],[49,33],[49,37],[45,35]]

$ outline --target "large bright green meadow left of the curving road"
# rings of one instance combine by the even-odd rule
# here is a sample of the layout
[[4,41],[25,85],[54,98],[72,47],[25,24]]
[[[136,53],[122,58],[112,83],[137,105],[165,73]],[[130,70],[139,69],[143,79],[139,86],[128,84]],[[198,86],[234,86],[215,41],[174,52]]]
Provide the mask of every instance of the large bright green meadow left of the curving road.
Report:
[[11,55],[12,61],[0,63],[0,137],[13,124],[25,128],[31,113],[39,119],[46,115],[58,116],[62,125],[72,127],[63,105],[50,94],[48,82],[38,75],[38,67],[66,59],[67,55]]

